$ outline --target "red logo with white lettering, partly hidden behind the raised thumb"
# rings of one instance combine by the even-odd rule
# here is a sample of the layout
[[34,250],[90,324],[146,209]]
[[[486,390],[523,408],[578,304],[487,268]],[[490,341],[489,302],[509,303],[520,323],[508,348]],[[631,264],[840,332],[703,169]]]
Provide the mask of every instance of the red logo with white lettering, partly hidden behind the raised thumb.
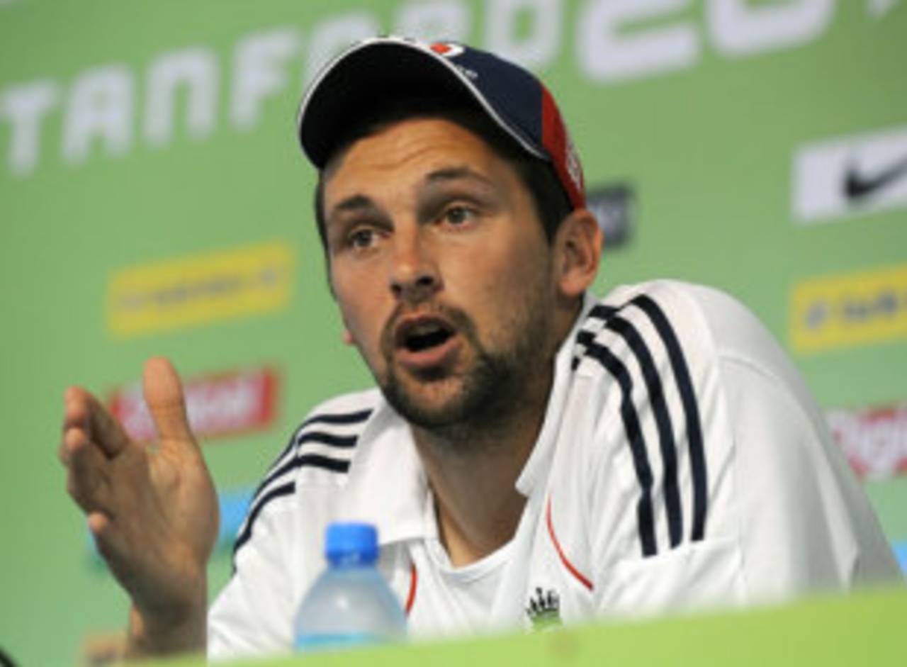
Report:
[[[183,389],[190,427],[199,439],[232,436],[260,430],[274,420],[278,374],[272,368],[250,368],[191,378]],[[141,383],[114,391],[108,407],[132,439],[148,442],[157,437]]]

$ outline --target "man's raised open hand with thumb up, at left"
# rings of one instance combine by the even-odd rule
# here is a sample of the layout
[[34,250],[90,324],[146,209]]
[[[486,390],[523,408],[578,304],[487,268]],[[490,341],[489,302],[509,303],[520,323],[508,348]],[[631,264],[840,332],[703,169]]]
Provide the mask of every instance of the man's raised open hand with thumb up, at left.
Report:
[[92,394],[69,387],[60,458],[98,551],[132,598],[130,652],[199,650],[217,497],[169,361],[148,360],[143,389],[156,445],[132,442]]

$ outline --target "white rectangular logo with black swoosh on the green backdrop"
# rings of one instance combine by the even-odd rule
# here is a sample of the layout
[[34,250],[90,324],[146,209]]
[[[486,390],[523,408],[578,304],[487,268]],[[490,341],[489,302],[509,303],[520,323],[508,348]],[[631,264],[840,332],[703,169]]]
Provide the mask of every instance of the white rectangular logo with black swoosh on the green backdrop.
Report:
[[907,125],[797,149],[793,191],[801,224],[907,208]]

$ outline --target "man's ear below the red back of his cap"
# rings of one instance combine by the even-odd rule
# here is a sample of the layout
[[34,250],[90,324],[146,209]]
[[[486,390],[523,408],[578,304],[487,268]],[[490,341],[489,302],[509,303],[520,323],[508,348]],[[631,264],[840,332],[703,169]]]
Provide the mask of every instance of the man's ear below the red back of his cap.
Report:
[[599,222],[585,209],[572,211],[554,237],[557,282],[565,297],[579,297],[595,280],[604,242]]

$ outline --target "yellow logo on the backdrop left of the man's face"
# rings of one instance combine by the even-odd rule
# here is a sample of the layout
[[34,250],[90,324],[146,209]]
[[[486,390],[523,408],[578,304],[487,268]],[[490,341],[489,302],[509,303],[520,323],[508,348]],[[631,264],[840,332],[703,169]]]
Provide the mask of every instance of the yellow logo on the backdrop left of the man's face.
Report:
[[117,271],[107,328],[125,338],[287,307],[293,250],[274,241]]

